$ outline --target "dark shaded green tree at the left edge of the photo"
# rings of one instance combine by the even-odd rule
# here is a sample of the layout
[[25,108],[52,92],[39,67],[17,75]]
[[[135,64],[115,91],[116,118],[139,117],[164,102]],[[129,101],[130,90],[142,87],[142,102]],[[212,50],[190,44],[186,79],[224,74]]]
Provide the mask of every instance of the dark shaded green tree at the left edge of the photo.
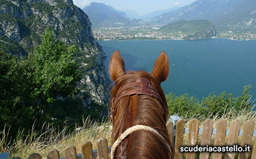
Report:
[[0,51],[0,128],[12,126],[10,134],[30,127],[31,100],[24,62]]

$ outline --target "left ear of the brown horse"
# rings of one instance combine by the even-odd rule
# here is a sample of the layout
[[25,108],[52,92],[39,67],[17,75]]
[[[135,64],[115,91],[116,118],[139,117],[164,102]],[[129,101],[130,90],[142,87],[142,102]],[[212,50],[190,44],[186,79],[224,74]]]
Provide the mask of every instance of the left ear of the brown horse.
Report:
[[118,50],[114,51],[109,63],[109,75],[112,80],[125,74],[125,64]]

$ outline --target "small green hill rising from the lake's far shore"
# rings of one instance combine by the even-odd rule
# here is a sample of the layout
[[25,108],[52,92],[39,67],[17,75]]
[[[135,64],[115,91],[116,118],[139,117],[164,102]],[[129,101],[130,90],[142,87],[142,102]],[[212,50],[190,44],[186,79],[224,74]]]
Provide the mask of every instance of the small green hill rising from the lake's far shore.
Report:
[[181,20],[162,26],[160,32],[180,35],[187,40],[207,39],[216,33],[213,23],[208,20]]

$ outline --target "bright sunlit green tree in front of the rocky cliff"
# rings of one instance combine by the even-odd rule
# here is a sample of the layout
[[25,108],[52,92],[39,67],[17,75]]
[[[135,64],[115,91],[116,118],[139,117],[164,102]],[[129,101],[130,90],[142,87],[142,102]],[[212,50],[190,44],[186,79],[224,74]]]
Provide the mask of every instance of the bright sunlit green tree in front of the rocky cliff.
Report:
[[47,106],[54,103],[57,95],[67,95],[74,90],[79,79],[74,60],[76,46],[66,46],[54,38],[54,32],[43,34],[41,45],[28,55],[27,72],[31,79],[31,97],[34,103],[34,119],[45,122]]

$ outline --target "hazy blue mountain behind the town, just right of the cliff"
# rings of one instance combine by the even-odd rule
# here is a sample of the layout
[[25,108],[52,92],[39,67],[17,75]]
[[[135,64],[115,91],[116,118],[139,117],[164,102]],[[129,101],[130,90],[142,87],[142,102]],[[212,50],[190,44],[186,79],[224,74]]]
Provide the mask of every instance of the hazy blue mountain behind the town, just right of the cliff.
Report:
[[103,3],[91,3],[83,8],[89,15],[93,27],[139,26],[146,24],[141,19],[130,19],[125,12],[120,12]]

